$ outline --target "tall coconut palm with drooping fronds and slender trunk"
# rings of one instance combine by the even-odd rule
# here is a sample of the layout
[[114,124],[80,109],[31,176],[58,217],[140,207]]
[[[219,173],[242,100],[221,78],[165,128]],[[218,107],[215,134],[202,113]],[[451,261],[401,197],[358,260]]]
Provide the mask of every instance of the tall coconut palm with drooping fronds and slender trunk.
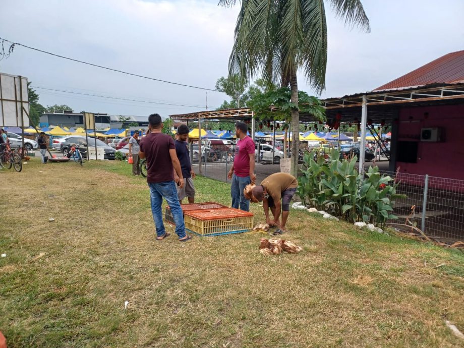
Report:
[[[328,0],[345,24],[370,31],[360,0]],[[237,0],[220,0],[235,5]],[[242,0],[229,74],[251,79],[258,74],[268,83],[290,85],[292,91],[292,174],[298,174],[299,110],[297,71],[303,69],[311,87],[325,89],[327,23],[323,0]]]

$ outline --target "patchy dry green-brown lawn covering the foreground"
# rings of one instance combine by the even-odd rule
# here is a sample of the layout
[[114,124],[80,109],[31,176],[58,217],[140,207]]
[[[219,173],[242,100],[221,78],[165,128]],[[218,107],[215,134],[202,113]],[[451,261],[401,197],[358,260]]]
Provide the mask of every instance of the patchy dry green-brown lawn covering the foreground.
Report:
[[[147,185],[130,171],[37,159],[0,169],[10,348],[464,345],[444,323],[464,331],[464,253],[301,211],[285,236],[298,255],[261,255],[262,234],[158,242]],[[195,183],[197,201],[230,204],[227,184]]]

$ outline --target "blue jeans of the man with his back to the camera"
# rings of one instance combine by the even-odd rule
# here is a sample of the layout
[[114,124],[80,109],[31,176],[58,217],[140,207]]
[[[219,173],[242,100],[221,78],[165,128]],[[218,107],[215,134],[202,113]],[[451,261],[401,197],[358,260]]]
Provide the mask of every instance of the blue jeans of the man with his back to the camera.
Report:
[[151,212],[153,214],[153,221],[155,222],[156,236],[162,237],[166,233],[163,224],[163,213],[161,210],[161,203],[163,202],[164,197],[167,204],[169,204],[171,214],[174,217],[174,222],[176,223],[176,233],[179,236],[179,239],[184,238],[184,214],[182,213],[181,204],[179,203],[179,198],[177,197],[176,183],[173,181],[148,183],[148,187],[150,188]]

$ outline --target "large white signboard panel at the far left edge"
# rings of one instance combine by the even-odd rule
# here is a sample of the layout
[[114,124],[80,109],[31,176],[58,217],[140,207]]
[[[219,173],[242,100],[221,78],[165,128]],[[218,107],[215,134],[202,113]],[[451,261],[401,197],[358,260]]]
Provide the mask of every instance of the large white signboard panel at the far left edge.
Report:
[[27,78],[0,73],[0,127],[29,127]]

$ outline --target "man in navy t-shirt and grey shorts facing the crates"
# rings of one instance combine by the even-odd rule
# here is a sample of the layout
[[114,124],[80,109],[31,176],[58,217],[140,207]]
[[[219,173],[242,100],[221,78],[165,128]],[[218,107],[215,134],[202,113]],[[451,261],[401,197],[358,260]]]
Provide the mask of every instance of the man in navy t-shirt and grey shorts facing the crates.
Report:
[[[182,204],[182,200],[187,197],[189,203],[195,203],[195,186],[193,179],[195,179],[195,172],[192,170],[190,163],[189,146],[187,144],[187,138],[189,137],[189,127],[186,125],[180,125],[177,129],[176,140],[176,154],[181,162],[182,175],[184,176],[184,186],[181,188],[177,187],[177,194],[179,197],[179,203]],[[174,181],[179,184],[179,178],[176,171],[174,171]]]

